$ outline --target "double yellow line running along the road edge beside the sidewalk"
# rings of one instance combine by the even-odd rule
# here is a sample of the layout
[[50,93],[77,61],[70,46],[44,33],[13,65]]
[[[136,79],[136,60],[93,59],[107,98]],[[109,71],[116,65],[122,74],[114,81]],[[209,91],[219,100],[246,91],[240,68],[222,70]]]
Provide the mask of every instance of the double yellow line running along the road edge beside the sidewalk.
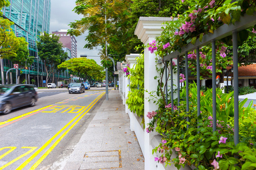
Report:
[[[73,122],[73,124],[57,139],[56,142],[54,142],[52,144],[52,146],[41,156],[41,158],[36,161],[36,163],[34,165],[32,165],[32,167],[30,169],[36,169],[38,167],[38,165],[46,158],[47,155],[49,155],[49,153],[51,153],[51,151],[53,150],[53,148],[55,148],[58,143],[61,141],[61,139],[63,139],[65,137],[65,135],[67,135],[67,133],[77,124],[77,122],[79,122],[81,120],[82,117],[85,116],[86,113],[88,113],[90,111],[90,109],[93,107],[94,104],[97,103],[97,101],[105,94],[102,93],[100,96],[98,96],[95,100],[93,100],[92,103],[90,103],[88,105],[88,107],[86,107],[84,109],[84,111],[82,111],[80,114],[78,114],[75,118],[73,118],[67,125],[65,125],[60,131],[58,131],[51,139],[49,139],[42,147],[39,148],[39,150],[37,150],[33,155],[30,156],[30,158],[28,158],[26,160],[26,162],[24,162],[23,164],[21,164],[16,170],[18,169],[23,169],[24,167],[26,167],[26,165],[28,163],[31,162],[31,160],[33,160],[36,156],[38,156],[38,154],[40,154],[40,152],[42,152],[61,132],[63,132],[69,125],[72,124],[73,121],[76,120],[77,117],[79,117],[83,112],[84,114],[82,114],[75,122]],[[87,109],[87,110],[86,110]]]

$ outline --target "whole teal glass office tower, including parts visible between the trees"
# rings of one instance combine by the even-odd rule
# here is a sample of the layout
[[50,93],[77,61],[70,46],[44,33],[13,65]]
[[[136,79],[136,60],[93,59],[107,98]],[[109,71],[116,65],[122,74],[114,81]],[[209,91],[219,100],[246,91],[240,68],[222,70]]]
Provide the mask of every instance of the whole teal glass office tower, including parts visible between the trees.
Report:
[[[12,29],[17,37],[24,37],[28,42],[28,49],[30,50],[30,56],[37,57],[36,49],[36,36],[40,35],[40,32],[46,31],[49,33],[49,23],[51,18],[51,0],[9,0],[10,6],[2,8],[3,18],[9,19],[14,22]],[[3,65],[5,66],[4,72],[10,68],[13,68],[11,61],[4,59]],[[23,70],[25,71],[25,70]],[[14,70],[11,70],[10,73]],[[27,83],[31,83],[31,79],[34,79],[39,87],[45,86],[43,84],[46,79],[46,71],[44,70],[43,63],[40,58],[35,59],[35,62],[27,70]],[[66,73],[67,74],[67,73]],[[60,74],[59,74],[60,75]],[[15,83],[15,74],[10,74],[13,82]],[[22,78],[24,75],[20,75]],[[61,78],[67,77],[65,73],[60,75]],[[10,79],[10,78],[8,78]],[[51,82],[52,80],[50,80]]]

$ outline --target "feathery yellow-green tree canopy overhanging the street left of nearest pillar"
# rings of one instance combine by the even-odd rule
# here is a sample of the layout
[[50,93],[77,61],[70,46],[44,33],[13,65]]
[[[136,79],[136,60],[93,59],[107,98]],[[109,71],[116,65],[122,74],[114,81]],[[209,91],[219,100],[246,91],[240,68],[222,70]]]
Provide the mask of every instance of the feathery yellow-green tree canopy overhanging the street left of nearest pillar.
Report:
[[128,32],[130,3],[130,0],[77,0],[73,11],[84,18],[69,24],[72,29],[69,29],[68,33],[80,36],[88,31],[84,48],[101,46],[104,51],[107,41],[113,49],[119,52],[127,51],[126,41],[131,37]]

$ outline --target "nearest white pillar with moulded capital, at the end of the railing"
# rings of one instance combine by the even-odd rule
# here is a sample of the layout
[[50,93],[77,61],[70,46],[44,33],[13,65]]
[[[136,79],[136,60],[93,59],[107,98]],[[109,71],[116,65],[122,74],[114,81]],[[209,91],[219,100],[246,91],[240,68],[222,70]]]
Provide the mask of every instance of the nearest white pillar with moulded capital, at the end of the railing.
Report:
[[[135,35],[143,42],[148,44],[155,40],[155,37],[160,36],[163,31],[162,27],[165,27],[164,22],[171,21],[171,18],[160,18],[160,17],[140,17],[135,29]],[[150,53],[148,49],[144,49],[144,90],[151,92],[155,91],[158,86],[158,82],[154,79],[154,76],[159,75],[155,69],[155,54]],[[158,107],[152,102],[148,101],[148,93],[144,93],[144,120],[145,125],[150,122],[147,117],[147,112],[152,112],[158,109]],[[154,156],[152,155],[151,139],[154,134],[146,133],[144,130],[144,169],[157,169],[158,163],[155,162]]]

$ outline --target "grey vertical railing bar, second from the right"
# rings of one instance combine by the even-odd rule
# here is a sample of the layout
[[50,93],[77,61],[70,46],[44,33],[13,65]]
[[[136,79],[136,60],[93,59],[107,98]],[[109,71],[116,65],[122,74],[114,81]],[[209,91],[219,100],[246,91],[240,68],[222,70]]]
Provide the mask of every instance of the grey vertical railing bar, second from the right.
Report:
[[216,131],[216,46],[215,40],[212,41],[212,118],[213,118],[213,131]]

